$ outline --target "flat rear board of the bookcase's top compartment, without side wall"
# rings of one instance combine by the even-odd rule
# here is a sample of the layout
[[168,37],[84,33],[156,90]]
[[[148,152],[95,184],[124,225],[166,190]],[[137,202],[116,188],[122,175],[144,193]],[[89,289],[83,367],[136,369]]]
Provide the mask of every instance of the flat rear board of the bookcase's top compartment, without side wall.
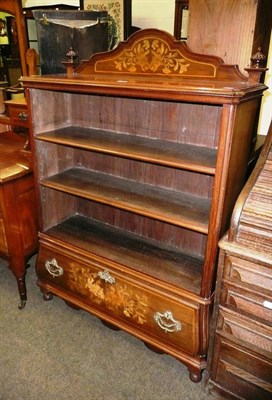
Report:
[[[76,95],[74,125],[217,147],[221,107],[121,97]],[[82,112],[84,110],[84,112]],[[199,129],[201,127],[201,129]]]

